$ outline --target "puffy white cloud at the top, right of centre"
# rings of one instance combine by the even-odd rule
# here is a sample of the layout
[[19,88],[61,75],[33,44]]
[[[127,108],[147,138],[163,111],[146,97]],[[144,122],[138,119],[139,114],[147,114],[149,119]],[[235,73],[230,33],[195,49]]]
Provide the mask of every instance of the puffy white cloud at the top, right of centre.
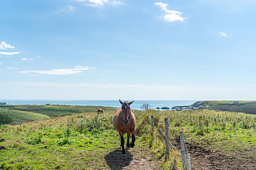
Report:
[[155,5],[159,6],[159,8],[165,11],[167,14],[163,17],[167,22],[174,22],[174,21],[184,21],[184,17],[181,17],[182,14],[179,11],[169,10],[167,9],[168,4],[162,2],[155,2]]

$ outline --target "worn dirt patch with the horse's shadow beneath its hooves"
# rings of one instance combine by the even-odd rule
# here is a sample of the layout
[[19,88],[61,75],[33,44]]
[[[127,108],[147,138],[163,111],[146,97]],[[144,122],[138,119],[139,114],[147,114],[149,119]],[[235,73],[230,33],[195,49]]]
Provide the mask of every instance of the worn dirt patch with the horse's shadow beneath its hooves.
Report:
[[116,149],[105,156],[111,170],[160,170],[161,164],[143,149],[126,149],[127,156],[121,156]]

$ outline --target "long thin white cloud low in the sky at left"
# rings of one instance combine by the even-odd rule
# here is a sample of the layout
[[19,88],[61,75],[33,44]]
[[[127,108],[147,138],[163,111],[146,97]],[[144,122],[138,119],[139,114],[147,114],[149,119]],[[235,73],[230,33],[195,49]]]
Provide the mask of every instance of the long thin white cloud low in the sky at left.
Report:
[[76,66],[75,68],[61,68],[61,69],[53,69],[53,70],[24,70],[19,71],[19,73],[39,73],[39,74],[49,74],[49,75],[70,75],[70,74],[76,74],[81,73],[83,70],[90,69],[92,67],[81,67]]

